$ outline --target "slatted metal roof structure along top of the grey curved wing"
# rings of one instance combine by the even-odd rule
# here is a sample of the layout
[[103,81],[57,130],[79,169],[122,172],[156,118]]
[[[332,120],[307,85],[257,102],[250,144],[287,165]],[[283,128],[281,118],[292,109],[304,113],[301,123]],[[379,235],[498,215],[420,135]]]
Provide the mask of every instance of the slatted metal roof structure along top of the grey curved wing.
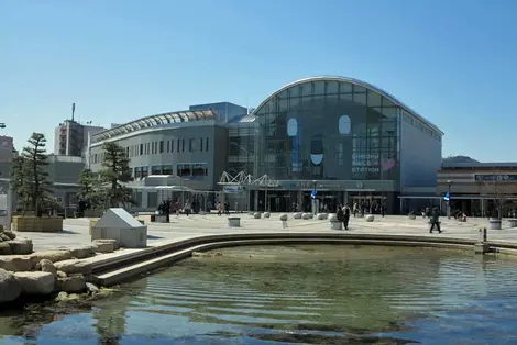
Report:
[[114,129],[98,132],[91,135],[94,142],[112,138],[122,134],[136,132],[142,129],[163,126],[170,123],[185,123],[201,120],[219,120],[219,114],[215,110],[185,110],[175,111],[157,115],[151,115],[128,122]]

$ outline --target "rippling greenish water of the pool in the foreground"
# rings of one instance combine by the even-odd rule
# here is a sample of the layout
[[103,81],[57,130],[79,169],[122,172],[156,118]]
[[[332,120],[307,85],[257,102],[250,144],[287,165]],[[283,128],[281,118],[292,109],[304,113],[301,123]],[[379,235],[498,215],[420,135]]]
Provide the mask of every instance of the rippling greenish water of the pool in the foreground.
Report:
[[330,245],[212,253],[88,307],[0,312],[0,344],[517,344],[512,257]]

